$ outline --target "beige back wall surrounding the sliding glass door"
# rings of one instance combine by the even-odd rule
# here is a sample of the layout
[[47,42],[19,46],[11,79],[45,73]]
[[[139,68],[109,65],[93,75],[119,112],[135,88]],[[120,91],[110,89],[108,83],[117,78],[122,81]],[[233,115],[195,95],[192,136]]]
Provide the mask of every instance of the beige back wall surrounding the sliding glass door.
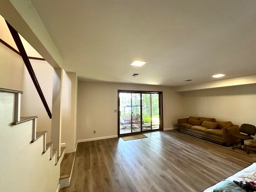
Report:
[[[164,129],[173,128],[172,122],[182,114],[182,97],[167,86],[78,82],[77,139],[117,136],[118,90],[142,90],[163,92]],[[96,134],[93,134],[96,130]]]

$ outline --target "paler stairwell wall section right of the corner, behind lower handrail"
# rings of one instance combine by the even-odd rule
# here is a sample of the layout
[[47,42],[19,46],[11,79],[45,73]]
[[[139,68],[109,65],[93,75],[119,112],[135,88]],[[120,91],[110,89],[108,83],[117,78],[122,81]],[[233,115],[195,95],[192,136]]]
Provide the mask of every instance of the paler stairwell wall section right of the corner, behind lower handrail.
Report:
[[[46,61],[31,60],[30,63],[36,74],[36,78],[40,84],[46,102],[52,111],[52,76],[53,68]],[[25,64],[23,64],[25,65]],[[51,138],[52,120],[49,118],[46,109],[36,91],[32,79],[25,68],[23,72],[23,94],[21,98],[21,116],[38,116],[37,130],[47,131],[47,142]]]

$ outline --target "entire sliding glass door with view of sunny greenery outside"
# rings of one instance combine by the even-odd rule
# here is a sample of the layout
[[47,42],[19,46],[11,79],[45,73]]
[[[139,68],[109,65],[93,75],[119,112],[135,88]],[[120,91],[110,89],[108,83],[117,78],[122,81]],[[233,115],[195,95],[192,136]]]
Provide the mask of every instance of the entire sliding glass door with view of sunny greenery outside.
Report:
[[162,92],[118,90],[118,136],[163,130]]

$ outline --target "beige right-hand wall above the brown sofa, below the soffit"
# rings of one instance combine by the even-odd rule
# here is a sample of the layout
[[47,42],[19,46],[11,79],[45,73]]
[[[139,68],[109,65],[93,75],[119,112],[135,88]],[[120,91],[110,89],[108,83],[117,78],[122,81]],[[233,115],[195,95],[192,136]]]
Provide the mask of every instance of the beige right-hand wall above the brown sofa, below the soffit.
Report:
[[184,113],[256,126],[256,85],[183,92]]

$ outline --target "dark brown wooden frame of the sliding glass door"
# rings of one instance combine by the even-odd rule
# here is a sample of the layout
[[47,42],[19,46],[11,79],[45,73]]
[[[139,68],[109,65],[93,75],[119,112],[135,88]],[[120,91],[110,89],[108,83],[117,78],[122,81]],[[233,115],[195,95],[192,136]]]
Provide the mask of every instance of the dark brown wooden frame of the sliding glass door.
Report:
[[[131,133],[126,133],[126,134],[121,134],[120,135],[120,97],[119,94],[120,93],[140,93],[140,132],[131,132]],[[151,130],[145,130],[142,131],[142,94],[158,94],[159,96],[159,129],[156,130],[152,130],[152,126],[151,126]],[[163,127],[163,92],[162,91],[138,91],[138,90],[118,90],[118,136],[124,136],[124,135],[130,135],[130,134],[138,134],[138,133],[144,133],[144,132],[153,132],[153,131],[159,131],[159,130],[164,130]],[[152,109],[150,109],[152,110]],[[151,117],[152,118],[152,117]],[[151,122],[152,125],[152,122]]]

